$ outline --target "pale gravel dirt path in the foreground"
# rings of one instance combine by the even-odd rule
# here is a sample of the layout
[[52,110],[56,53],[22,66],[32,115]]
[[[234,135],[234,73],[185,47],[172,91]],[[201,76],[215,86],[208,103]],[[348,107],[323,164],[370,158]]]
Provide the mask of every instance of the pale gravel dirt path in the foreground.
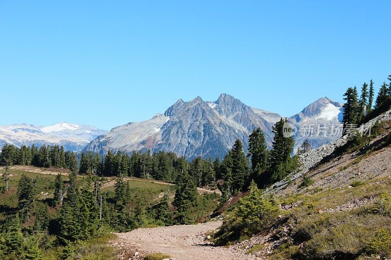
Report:
[[[197,225],[139,228],[128,233],[115,233],[110,244],[123,251],[123,259],[143,259],[149,253],[162,252],[175,260],[251,260],[244,251],[218,247],[205,241],[205,233],[217,229],[221,221]],[[136,253],[137,252],[137,253]],[[136,256],[134,256],[136,254]]]

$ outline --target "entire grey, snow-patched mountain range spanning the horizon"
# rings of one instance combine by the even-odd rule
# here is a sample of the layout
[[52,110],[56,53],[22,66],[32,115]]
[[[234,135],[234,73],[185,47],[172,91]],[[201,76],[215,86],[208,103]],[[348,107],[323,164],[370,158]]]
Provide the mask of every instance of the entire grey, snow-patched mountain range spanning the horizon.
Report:
[[[297,128],[295,151],[307,138],[312,148],[337,139],[339,136],[333,132],[341,127],[342,105],[324,97],[289,117],[289,122]],[[164,114],[142,122],[129,122],[109,132],[67,122],[49,126],[0,126],[0,148],[6,143],[18,147],[33,143],[37,146],[60,144],[66,150],[93,151],[101,155],[108,150],[128,153],[151,150],[152,153],[174,152],[190,160],[198,156],[222,158],[237,139],[247,149],[248,136],[258,127],[271,148],[272,126],[280,119],[277,113],[250,107],[230,95],[221,94],[216,101],[204,101],[200,97],[188,102],[180,99]],[[304,131],[309,128],[313,128],[311,135]]]

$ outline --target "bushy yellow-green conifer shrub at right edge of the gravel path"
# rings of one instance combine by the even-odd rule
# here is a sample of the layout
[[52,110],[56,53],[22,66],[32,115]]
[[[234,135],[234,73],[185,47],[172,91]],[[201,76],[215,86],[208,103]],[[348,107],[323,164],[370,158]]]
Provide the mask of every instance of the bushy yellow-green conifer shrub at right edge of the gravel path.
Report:
[[224,220],[214,235],[215,242],[227,244],[251,237],[270,227],[279,212],[278,206],[271,198],[264,198],[263,191],[252,181],[249,195],[241,198],[227,220]]

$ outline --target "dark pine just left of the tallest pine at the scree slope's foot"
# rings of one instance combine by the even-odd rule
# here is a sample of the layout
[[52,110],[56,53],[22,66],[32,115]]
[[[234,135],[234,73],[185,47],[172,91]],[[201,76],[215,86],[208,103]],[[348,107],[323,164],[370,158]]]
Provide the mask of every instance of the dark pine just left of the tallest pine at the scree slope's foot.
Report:
[[261,128],[254,130],[248,139],[248,157],[251,160],[251,173],[253,177],[267,169],[267,147],[265,136]]

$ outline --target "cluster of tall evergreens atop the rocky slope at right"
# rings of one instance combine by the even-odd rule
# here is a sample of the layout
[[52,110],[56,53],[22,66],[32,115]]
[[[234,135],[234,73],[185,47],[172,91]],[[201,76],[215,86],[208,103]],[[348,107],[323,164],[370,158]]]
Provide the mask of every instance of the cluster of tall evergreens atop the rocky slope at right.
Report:
[[[358,96],[356,87],[349,87],[344,94],[344,133],[349,126],[363,123],[390,109],[391,106],[391,75],[388,77],[389,84],[383,82],[380,91],[374,100],[373,80],[368,84],[364,82],[361,95]],[[354,128],[354,127],[353,127]]]

